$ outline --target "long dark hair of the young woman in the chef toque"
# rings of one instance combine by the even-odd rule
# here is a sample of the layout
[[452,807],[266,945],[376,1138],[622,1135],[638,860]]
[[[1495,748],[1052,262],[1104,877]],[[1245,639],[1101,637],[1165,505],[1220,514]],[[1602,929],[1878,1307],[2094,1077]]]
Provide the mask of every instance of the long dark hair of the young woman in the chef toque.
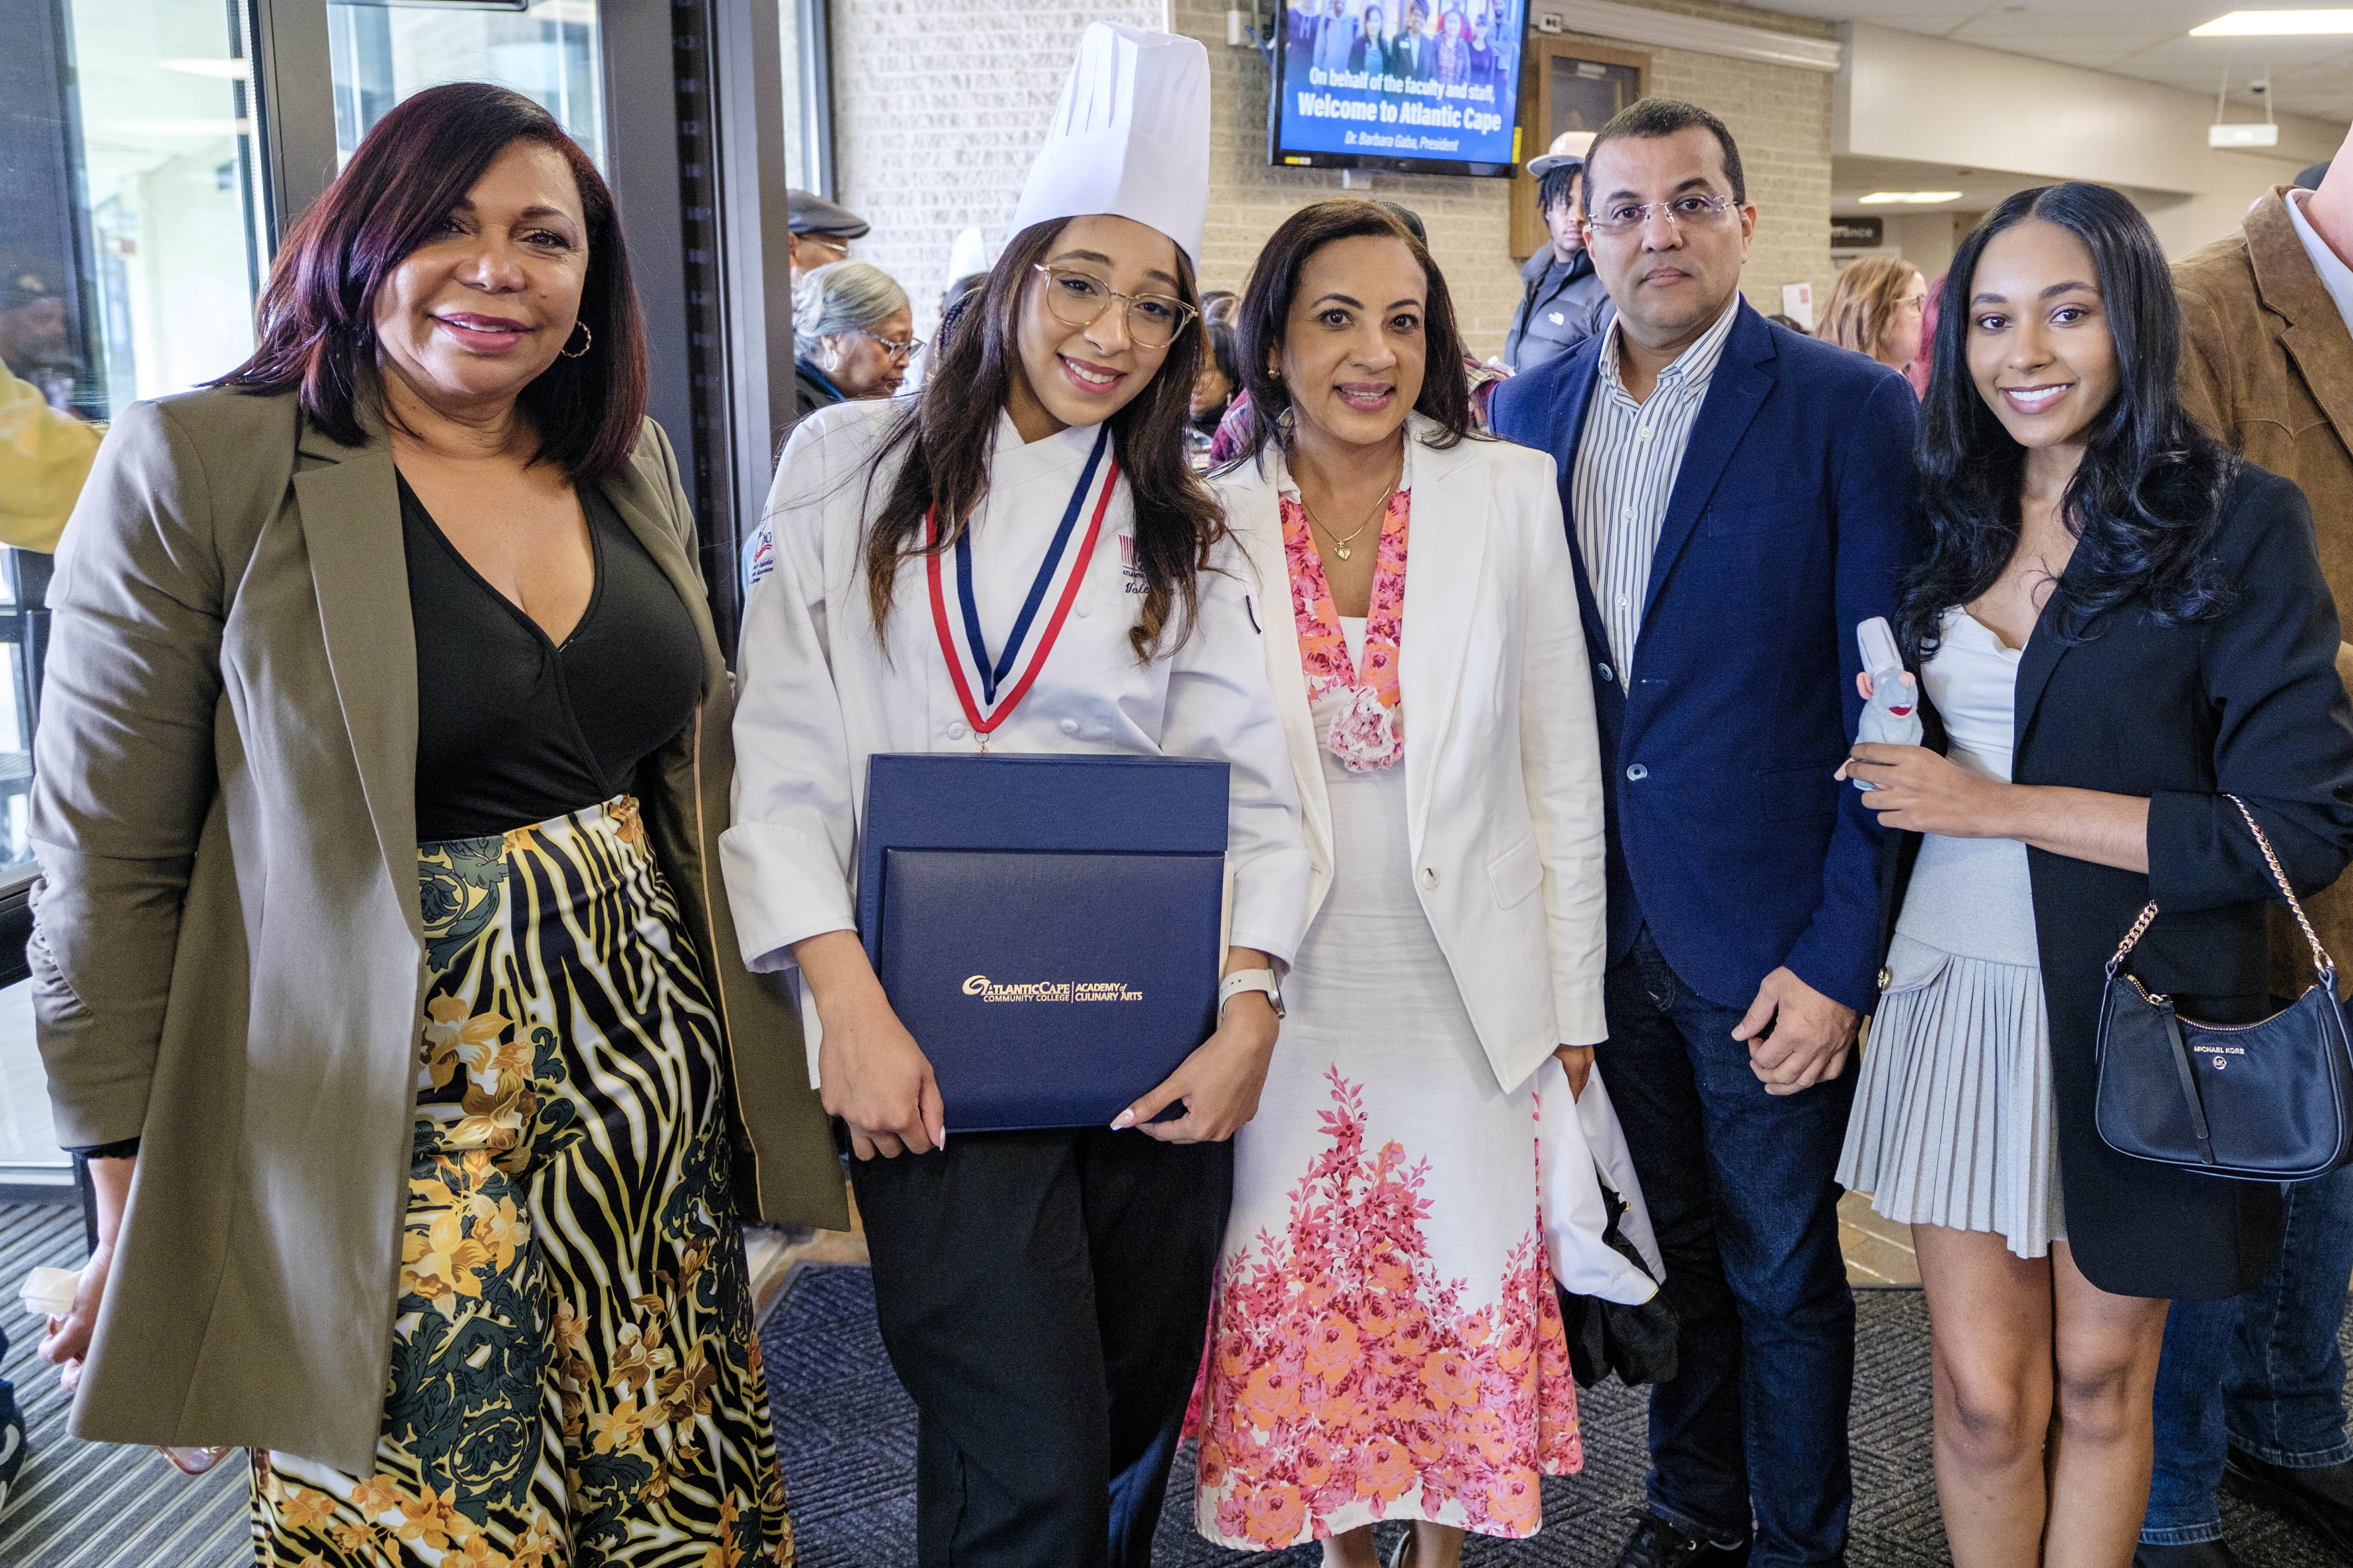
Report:
[[[936,508],[941,522],[934,550],[946,550],[965,536],[972,512],[988,496],[998,409],[1012,395],[1014,367],[1021,362],[1021,303],[1038,284],[1033,266],[1047,259],[1064,223],[1068,219],[1031,223],[1012,237],[979,296],[965,303],[955,331],[941,334],[939,364],[925,374],[915,409],[882,440],[878,458],[906,449],[906,461],[866,529],[866,604],[878,637],[889,621],[899,564],[927,555],[925,512]],[[1169,343],[1144,390],[1108,421],[1111,454],[1136,505],[1144,607],[1127,632],[1136,658],[1160,654],[1162,637],[1172,630],[1176,644],[1186,639],[1200,602],[1195,576],[1209,564],[1209,550],[1226,538],[1224,512],[1184,458],[1193,374],[1200,369],[1200,292],[1184,247],[1174,249],[1176,292],[1193,306],[1195,320]]]

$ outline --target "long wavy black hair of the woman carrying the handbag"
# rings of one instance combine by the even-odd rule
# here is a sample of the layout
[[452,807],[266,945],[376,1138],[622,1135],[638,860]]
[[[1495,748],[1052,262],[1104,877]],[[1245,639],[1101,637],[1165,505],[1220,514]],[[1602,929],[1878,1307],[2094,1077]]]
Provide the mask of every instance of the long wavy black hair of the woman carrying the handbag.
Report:
[[2181,407],[2181,308],[2158,235],[2106,186],[2038,186],[1986,214],[1944,277],[1920,411],[1920,503],[1934,543],[1897,614],[1913,658],[1934,651],[1944,614],[1993,588],[2019,548],[2026,449],[1969,374],[1969,292],[1986,244],[2026,219],[2057,223],[2092,252],[2115,341],[2115,400],[2092,421],[2061,503],[2075,557],[2052,585],[2059,639],[2082,642],[2094,616],[2137,595],[2160,625],[2205,621],[2231,602],[2212,538],[2238,463]]

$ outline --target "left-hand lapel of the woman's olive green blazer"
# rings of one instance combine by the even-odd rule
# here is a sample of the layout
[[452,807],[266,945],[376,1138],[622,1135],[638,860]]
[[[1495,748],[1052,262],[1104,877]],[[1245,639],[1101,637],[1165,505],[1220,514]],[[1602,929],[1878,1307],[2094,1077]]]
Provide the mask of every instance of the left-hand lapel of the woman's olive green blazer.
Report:
[[416,903],[416,623],[409,562],[400,545],[400,484],[384,425],[367,418],[367,444],[341,447],[304,421],[294,503],[334,698],[367,790],[393,889],[424,945]]

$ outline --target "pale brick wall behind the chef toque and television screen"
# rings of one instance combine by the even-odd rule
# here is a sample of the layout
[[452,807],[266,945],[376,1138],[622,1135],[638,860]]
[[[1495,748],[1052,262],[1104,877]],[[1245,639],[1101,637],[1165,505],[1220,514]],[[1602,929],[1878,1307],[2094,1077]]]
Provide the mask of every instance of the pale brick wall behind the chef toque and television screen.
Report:
[[[1642,0],[1718,21],[1828,38],[1831,24],[1729,0]],[[896,277],[929,334],[955,233],[991,242],[1021,195],[1031,153],[1087,21],[1172,26],[1209,47],[1209,228],[1205,289],[1240,289],[1266,235],[1304,202],[1341,193],[1337,169],[1266,165],[1266,61],[1226,45],[1224,0],[833,0],[833,134],[840,200],[873,223],[856,254]],[[1624,47],[1624,45],[1621,45]],[[1701,103],[1732,127],[1758,205],[1744,287],[1760,310],[1781,284],[1831,284],[1831,78],[1687,49],[1647,49],[1652,92]],[[1362,176],[1360,176],[1362,179]],[[1473,353],[1504,348],[1520,301],[1508,254],[1508,181],[1374,174],[1367,190],[1414,207],[1431,230]]]

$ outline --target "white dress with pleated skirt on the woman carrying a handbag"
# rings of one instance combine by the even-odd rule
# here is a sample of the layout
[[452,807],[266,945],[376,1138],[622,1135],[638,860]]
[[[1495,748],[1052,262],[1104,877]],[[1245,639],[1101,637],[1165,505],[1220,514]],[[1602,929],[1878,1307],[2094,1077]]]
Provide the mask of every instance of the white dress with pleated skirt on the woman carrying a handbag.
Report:
[[[2002,783],[2021,654],[1955,607],[1920,670],[1946,755]],[[2066,1239],[2035,896],[2017,839],[1922,835],[1838,1180],[1889,1220],[1993,1232],[2019,1258]]]

